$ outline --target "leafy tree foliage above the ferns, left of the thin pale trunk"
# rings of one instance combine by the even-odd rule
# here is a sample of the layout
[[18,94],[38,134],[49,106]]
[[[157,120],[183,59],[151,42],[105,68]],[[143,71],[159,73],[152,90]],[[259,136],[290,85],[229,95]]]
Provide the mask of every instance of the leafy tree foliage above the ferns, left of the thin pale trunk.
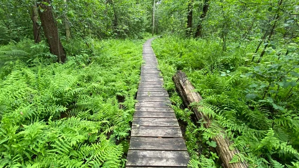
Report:
[[[0,1],[0,44],[32,37],[31,7],[40,1]],[[81,40],[142,38],[143,32],[151,29],[150,0],[52,0],[51,5],[62,39],[66,39],[66,24],[71,35]]]

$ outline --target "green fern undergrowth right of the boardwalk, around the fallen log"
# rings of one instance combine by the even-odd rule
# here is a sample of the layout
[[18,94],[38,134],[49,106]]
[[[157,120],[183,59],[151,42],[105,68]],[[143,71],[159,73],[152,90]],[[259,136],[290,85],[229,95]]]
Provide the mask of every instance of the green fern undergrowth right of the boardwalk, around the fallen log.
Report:
[[[231,43],[221,51],[217,40],[163,37],[152,42],[170,93],[175,114],[186,125],[184,138],[191,168],[219,168],[211,138],[221,128],[241,152],[231,163],[246,161],[251,168],[298,168],[299,87],[298,48],[289,55],[267,50],[260,64],[252,63],[255,46]],[[220,47],[219,47],[220,46]],[[238,49],[236,49],[238,48]],[[213,119],[206,129],[192,122],[171,77],[182,70],[203,100],[193,104]]]

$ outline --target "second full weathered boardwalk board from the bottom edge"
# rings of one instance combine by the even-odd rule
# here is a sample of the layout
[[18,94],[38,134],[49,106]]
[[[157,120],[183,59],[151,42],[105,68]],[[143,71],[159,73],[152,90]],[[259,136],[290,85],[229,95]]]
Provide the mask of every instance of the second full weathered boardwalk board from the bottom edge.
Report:
[[129,150],[187,151],[182,138],[132,137]]

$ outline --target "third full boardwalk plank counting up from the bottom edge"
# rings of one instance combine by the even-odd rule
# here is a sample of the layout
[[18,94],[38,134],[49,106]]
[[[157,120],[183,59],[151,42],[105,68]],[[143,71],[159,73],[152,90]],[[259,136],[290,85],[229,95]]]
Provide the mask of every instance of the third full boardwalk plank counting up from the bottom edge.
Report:
[[131,137],[182,137],[179,127],[132,126]]

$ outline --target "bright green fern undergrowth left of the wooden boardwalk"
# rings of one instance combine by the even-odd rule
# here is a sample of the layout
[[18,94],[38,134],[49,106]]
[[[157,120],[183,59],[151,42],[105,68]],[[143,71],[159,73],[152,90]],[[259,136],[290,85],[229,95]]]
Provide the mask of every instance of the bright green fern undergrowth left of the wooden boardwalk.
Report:
[[143,41],[89,42],[0,47],[0,168],[125,167]]

